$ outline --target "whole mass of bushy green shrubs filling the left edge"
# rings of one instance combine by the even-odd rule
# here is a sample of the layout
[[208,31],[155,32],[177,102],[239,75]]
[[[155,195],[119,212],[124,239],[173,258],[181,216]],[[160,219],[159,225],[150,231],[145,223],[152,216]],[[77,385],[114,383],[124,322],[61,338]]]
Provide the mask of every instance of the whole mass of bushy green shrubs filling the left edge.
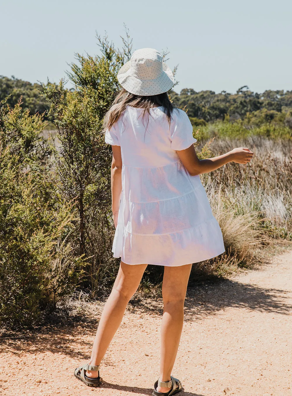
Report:
[[60,197],[40,137],[42,118],[0,103],[0,325],[37,323],[41,311],[74,291],[83,258],[76,255],[72,204]]

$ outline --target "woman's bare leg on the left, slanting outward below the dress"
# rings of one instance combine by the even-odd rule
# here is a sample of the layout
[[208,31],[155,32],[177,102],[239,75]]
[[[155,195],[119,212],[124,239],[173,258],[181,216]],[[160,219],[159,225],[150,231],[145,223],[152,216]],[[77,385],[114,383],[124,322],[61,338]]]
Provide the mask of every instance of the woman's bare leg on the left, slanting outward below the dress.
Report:
[[[89,364],[98,366],[105,355],[116,330],[120,326],[126,306],[136,292],[147,264],[128,265],[121,261],[113,290],[105,303]],[[90,378],[97,377],[97,371],[86,371]]]

